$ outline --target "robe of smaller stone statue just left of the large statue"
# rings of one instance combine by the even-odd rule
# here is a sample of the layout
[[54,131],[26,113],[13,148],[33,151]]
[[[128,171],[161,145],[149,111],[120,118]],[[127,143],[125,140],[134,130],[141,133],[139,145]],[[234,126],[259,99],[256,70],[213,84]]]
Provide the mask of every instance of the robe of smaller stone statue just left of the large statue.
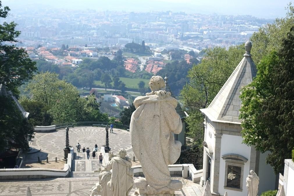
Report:
[[[131,159],[127,160],[120,157],[113,157],[106,165],[106,170],[111,170],[111,180],[108,186],[111,189],[112,196],[128,196],[133,188],[134,172]],[[108,195],[109,196],[109,195]]]

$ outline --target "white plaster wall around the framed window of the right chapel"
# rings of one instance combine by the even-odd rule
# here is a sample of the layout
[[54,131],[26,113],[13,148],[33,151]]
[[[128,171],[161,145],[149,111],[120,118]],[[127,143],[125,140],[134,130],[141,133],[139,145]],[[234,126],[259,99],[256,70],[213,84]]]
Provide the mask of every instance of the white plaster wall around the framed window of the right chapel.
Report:
[[220,174],[219,174],[219,184],[218,190],[220,195],[224,195],[225,191],[228,192],[228,195],[234,196],[247,196],[247,188],[246,188],[246,177],[249,174],[249,166],[250,166],[250,151],[251,148],[245,144],[242,144],[243,138],[241,136],[235,135],[226,135],[223,134],[221,138],[221,148],[220,148],[220,157],[226,154],[238,154],[247,158],[248,161],[244,164],[244,173],[243,173],[243,191],[234,191],[225,189],[225,160],[220,158]]

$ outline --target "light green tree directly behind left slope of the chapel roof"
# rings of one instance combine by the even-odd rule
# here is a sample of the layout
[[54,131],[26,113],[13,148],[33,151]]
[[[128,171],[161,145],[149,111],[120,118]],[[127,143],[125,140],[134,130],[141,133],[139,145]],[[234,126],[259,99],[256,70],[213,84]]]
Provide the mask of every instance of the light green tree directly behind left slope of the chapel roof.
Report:
[[206,108],[216,96],[225,81],[243,58],[244,45],[225,48],[206,49],[206,56],[198,65],[188,71],[188,83],[181,91],[181,103],[189,117],[189,137],[200,145],[203,140],[203,115],[199,109]]

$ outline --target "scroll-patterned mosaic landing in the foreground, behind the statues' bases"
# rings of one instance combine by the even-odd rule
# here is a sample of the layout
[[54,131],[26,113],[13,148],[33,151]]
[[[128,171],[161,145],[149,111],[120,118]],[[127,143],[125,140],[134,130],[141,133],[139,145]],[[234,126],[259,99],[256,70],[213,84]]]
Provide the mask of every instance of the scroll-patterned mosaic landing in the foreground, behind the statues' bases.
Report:
[[[173,178],[177,179],[177,178]],[[180,178],[178,178],[180,179]],[[190,180],[181,179],[183,188],[176,191],[176,196],[200,196],[201,188]],[[90,189],[93,187],[97,178],[56,178],[44,179],[39,181],[19,181],[19,182],[0,182],[0,195],[26,195],[26,189],[29,186],[32,195],[53,195],[53,196],[84,196],[90,195]],[[196,194],[198,191],[198,194]],[[130,192],[131,195],[134,189]]]

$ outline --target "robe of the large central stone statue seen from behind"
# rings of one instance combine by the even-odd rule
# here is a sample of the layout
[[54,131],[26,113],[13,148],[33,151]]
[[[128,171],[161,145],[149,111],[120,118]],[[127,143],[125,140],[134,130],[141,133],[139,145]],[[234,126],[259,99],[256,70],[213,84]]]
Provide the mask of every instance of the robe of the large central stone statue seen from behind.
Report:
[[175,163],[181,153],[181,142],[173,136],[182,131],[182,121],[175,110],[178,101],[171,96],[150,95],[137,97],[133,103],[133,151],[147,183],[155,189],[166,187],[171,182],[168,165]]

